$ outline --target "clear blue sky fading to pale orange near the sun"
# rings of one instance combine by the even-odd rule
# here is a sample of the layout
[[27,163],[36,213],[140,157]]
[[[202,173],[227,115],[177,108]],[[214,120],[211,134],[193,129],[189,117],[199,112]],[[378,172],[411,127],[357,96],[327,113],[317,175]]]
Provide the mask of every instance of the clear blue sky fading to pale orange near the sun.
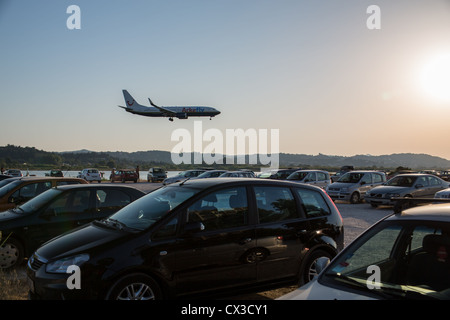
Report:
[[[449,35],[449,0],[0,0],[0,146],[170,151],[202,121],[278,129],[284,153],[450,159]],[[122,89],[221,114],[133,115]]]

